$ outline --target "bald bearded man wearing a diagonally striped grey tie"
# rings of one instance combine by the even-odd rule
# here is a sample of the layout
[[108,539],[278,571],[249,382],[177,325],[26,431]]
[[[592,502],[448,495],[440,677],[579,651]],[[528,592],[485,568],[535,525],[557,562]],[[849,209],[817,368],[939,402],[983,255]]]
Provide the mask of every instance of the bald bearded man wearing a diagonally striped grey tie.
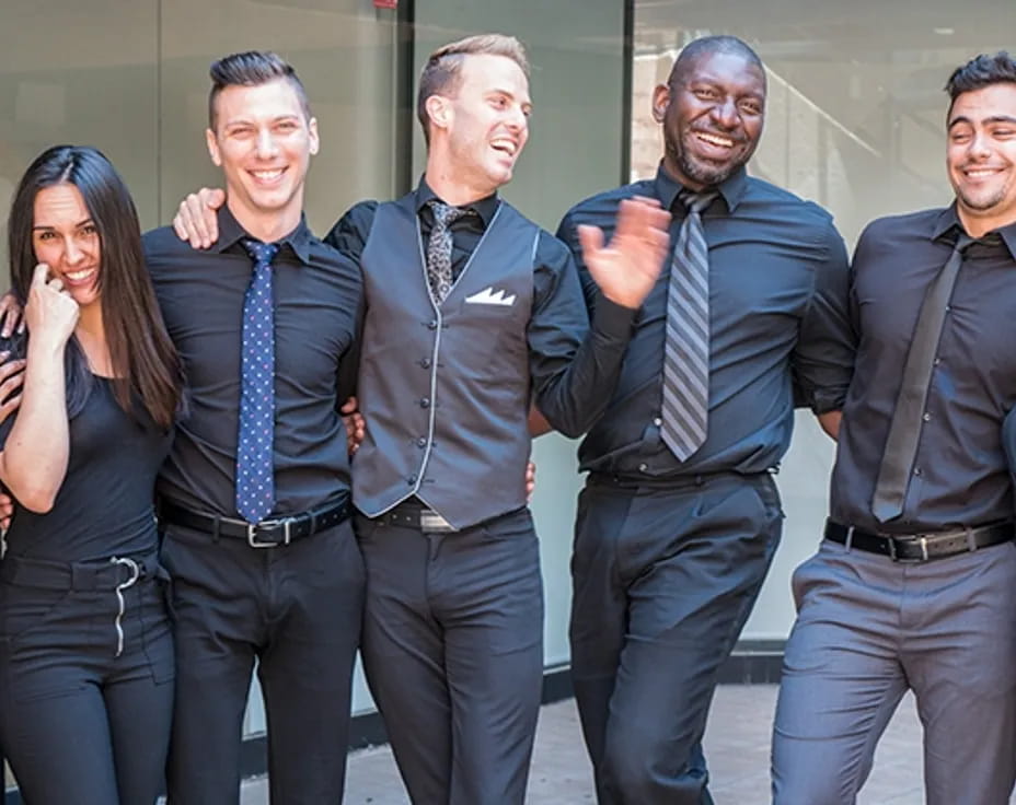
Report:
[[573,208],[610,234],[623,199],[673,214],[621,382],[579,451],[572,669],[601,805],[711,802],[698,748],[720,664],[780,539],[772,474],[795,398],[835,435],[853,364],[847,262],[830,215],[744,165],[765,72],[740,39],[693,42],[656,88],[654,179]]

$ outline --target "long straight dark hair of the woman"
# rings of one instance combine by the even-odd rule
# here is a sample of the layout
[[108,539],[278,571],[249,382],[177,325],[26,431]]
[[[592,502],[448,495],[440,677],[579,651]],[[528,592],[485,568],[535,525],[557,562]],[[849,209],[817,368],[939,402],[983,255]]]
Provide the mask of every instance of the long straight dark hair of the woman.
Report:
[[[37,264],[32,240],[35,197],[44,188],[64,184],[78,188],[99,232],[99,304],[113,362],[116,401],[135,416],[135,399],[139,399],[155,423],[168,430],[181,404],[180,361],[145,268],[141,226],[130,192],[97,150],[56,145],[39,154],[21,177],[8,219],[14,294],[24,306]],[[22,351],[24,339],[20,346]],[[76,417],[91,390],[92,375],[73,336],[65,365],[67,411]]]

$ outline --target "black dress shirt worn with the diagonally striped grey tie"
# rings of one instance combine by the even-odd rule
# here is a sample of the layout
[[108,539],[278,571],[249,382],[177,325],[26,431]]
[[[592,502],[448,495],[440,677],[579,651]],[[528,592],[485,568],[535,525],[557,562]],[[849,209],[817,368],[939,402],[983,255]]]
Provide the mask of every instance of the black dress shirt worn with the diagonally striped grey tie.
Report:
[[[659,199],[673,214],[671,247],[685,217],[681,186],[660,166],[574,207],[557,235],[576,257],[588,304],[577,226],[609,236],[622,199]],[[617,393],[579,448],[582,469],[663,480],[775,467],[790,441],[795,397],[816,413],[843,405],[854,359],[847,315],[847,258],[828,212],[743,170],[702,213],[709,249],[708,436],[686,462],[660,439],[669,271],[636,318]]]

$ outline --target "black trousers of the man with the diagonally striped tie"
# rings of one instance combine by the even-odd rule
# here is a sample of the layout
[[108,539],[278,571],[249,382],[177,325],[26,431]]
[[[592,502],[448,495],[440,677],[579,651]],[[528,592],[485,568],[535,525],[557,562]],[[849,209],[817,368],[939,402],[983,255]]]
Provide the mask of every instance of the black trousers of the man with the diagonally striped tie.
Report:
[[780,540],[767,474],[659,489],[592,476],[572,562],[572,674],[601,805],[709,803],[719,666]]

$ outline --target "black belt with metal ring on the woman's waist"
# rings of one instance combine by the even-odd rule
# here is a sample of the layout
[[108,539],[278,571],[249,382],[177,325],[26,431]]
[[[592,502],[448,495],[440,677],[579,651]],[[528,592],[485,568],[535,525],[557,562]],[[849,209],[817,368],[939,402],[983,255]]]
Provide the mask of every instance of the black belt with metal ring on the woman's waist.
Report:
[[116,590],[151,578],[169,579],[155,553],[86,562],[23,559],[8,553],[0,562],[0,579],[8,584],[42,590]]

